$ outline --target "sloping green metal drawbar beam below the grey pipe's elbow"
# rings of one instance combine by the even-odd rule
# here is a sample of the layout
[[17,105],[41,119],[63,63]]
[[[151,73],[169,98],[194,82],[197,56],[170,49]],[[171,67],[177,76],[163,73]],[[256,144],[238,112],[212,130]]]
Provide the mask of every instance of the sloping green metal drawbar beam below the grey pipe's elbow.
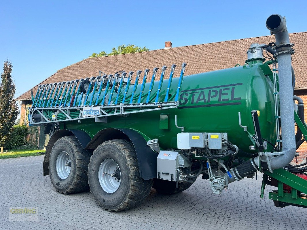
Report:
[[274,169],[273,173],[270,173],[269,171],[265,171],[264,173],[275,178],[276,180],[278,180],[278,182],[281,183],[281,186],[278,187],[280,187],[282,193],[283,193],[282,183],[284,183],[302,193],[307,194],[307,181],[304,180],[303,178],[298,177],[293,173],[290,173],[284,169]]

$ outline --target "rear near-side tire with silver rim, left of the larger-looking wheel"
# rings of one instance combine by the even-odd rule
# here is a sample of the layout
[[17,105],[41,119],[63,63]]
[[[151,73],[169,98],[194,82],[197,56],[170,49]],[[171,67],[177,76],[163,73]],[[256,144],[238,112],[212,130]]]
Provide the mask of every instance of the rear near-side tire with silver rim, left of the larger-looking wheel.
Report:
[[56,141],[49,158],[49,175],[53,187],[61,194],[88,190],[90,156],[75,136],[64,136]]

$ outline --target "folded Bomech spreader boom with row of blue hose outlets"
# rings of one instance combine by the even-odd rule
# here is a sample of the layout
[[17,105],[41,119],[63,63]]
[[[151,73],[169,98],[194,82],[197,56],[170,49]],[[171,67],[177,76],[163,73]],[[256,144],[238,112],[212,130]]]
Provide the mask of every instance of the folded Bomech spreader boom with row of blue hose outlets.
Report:
[[[93,118],[93,116],[83,116],[83,110],[90,108],[99,109],[99,114],[95,115],[95,121],[105,122],[107,116],[125,115],[130,113],[148,112],[161,109],[177,108],[179,105],[178,98],[181,89],[181,84],[185,72],[186,63],[181,66],[181,73],[178,80],[178,86],[169,98],[169,93],[172,85],[172,79],[176,65],[173,64],[168,80],[166,95],[164,100],[161,100],[160,92],[162,82],[165,75],[166,66],[161,68],[161,76],[156,94],[152,94],[154,80],[159,68],[153,69],[153,75],[150,81],[149,91],[144,92],[149,69],[144,71],[144,77],[139,94],[135,94],[138,88],[138,81],[142,73],[141,70],[136,72],[136,78],[133,85],[133,90],[128,94],[129,88],[132,85],[133,71],[130,71],[128,76],[126,72],[122,74],[103,75],[85,79],[77,79],[68,82],[56,82],[38,86],[35,97],[31,90],[32,107],[29,107],[29,124],[42,125],[52,122],[63,122]],[[99,71],[100,73],[101,71]],[[106,80],[107,79],[107,80]],[[81,92],[80,83],[83,80],[89,80],[89,85],[85,93]],[[119,82],[119,87],[116,87]],[[124,88],[125,87],[125,88]],[[117,89],[116,89],[117,88]],[[101,95],[103,95],[101,97]],[[97,98],[94,100],[95,96]],[[141,103],[142,98],[146,102]],[[160,101],[159,101],[160,97]],[[144,100],[143,99],[143,100]],[[39,114],[41,119],[37,119],[35,115]],[[34,115],[34,116],[33,116]],[[57,119],[57,118],[60,119]]]

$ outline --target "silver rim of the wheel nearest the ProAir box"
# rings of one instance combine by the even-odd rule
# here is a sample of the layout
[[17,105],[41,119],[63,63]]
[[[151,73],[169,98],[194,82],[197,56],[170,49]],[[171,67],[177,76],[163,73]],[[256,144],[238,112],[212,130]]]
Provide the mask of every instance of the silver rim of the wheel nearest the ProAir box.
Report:
[[114,193],[118,190],[121,179],[120,177],[120,169],[115,160],[105,159],[100,164],[98,179],[100,186],[105,192]]

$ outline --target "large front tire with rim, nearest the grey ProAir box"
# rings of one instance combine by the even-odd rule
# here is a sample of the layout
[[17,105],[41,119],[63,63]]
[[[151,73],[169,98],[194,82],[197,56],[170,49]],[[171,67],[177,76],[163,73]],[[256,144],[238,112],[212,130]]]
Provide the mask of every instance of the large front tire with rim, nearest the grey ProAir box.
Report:
[[153,184],[152,179],[145,181],[140,177],[134,147],[126,140],[100,144],[91,156],[88,178],[95,200],[110,212],[139,205],[148,197]]

